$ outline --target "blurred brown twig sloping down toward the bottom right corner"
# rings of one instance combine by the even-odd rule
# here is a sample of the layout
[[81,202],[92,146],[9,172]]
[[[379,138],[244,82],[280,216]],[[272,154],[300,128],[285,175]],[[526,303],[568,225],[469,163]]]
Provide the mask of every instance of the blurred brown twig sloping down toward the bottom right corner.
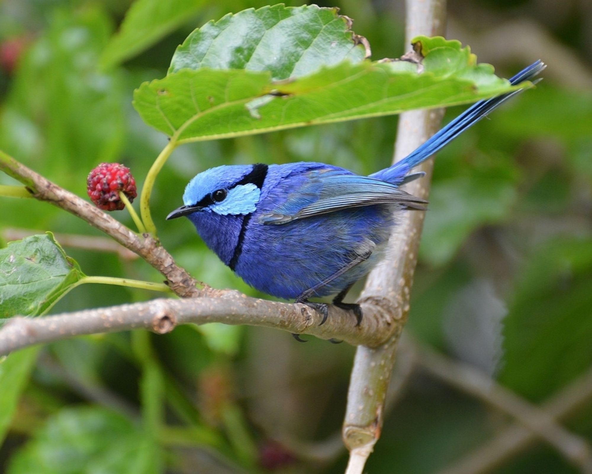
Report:
[[590,445],[580,436],[557,424],[552,415],[499,385],[480,370],[450,360],[428,347],[419,348],[418,361],[429,373],[510,414],[537,437],[554,446],[571,463],[584,472],[592,472]]

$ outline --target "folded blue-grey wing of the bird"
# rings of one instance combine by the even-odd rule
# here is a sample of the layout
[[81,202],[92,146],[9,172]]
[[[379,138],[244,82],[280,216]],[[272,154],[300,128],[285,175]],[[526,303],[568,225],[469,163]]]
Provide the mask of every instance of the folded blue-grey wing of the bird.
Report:
[[259,222],[284,224],[352,207],[374,204],[400,204],[407,209],[424,210],[427,201],[411,196],[397,185],[349,174],[342,169],[315,169],[290,176],[278,184],[275,196],[287,196],[274,209],[263,212]]

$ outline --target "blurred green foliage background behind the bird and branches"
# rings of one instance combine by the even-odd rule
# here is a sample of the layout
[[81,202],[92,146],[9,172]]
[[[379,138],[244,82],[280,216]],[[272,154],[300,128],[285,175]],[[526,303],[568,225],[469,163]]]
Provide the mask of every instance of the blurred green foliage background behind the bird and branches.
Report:
[[[159,21],[152,24],[153,14],[138,13],[142,4],[159,3],[181,5],[175,11],[182,15],[157,10]],[[18,38],[25,46],[14,69],[0,62],[0,149],[81,196],[86,174],[100,161],[130,166],[141,185],[166,137],[131,107],[134,88],[165,76],[175,47],[197,25],[265,4],[139,0],[134,21],[144,33],[124,50],[107,45],[130,2],[5,0],[0,43]],[[592,18],[576,2],[561,11],[535,0],[449,4],[452,18],[466,25],[457,39],[475,53],[480,54],[480,36],[472,28],[493,31],[507,16],[527,18],[570,52],[579,61],[578,73],[592,81],[592,57],[585,53],[592,50]],[[328,6],[334,5],[355,19],[354,29],[368,38],[374,59],[403,52],[399,2],[342,0]],[[126,43],[125,34],[115,41]],[[501,383],[533,402],[545,401],[592,363],[592,92],[554,74],[553,57],[541,59],[550,66],[536,90],[437,156],[408,324],[420,341],[498,373]],[[525,63],[508,58],[496,68],[509,76]],[[452,108],[447,119],[461,110]],[[218,164],[300,160],[369,174],[390,164],[396,120],[175,150],[152,197],[163,245],[212,286],[256,294],[205,248],[191,226],[163,222],[189,178]],[[0,184],[15,182],[0,175]],[[124,213],[117,217],[131,225]],[[9,229],[99,235],[47,204],[2,198],[0,240]],[[139,260],[77,248],[66,252],[88,274],[161,278]],[[83,285],[52,312],[154,296]],[[218,325],[184,326],[162,337],[134,332],[77,338],[12,354],[0,362],[0,434],[7,431],[0,472],[262,472],[256,447],[270,438],[321,440],[339,430],[352,354],[345,345],[299,345],[284,333]],[[590,403],[578,408],[568,426],[592,443],[591,411]],[[507,422],[475,399],[416,373],[385,421],[368,470],[436,472]],[[318,462],[295,446],[296,461],[278,472],[343,472],[343,453]],[[269,456],[269,450],[261,452]],[[494,472],[574,469],[538,444]]]

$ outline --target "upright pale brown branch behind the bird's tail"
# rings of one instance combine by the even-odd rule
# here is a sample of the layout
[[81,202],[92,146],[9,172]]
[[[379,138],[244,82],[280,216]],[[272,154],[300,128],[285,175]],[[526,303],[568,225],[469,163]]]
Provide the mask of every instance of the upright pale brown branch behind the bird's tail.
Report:
[[[411,39],[443,35],[445,30],[445,0],[406,0],[406,44]],[[400,161],[427,138],[437,132],[443,110],[418,110],[401,114],[394,162]],[[429,194],[433,160],[419,169],[426,177],[413,181],[406,190],[426,199]],[[353,363],[348,392],[348,406],[343,424],[343,440],[350,451],[346,474],[361,474],[383,421],[384,402],[388,382],[395,361],[397,342],[403,331],[409,310],[413,273],[417,263],[417,249],[423,228],[423,212],[407,212],[389,242],[385,258],[369,275],[361,302],[387,305],[394,312],[397,329],[391,339],[380,347],[359,346]]]

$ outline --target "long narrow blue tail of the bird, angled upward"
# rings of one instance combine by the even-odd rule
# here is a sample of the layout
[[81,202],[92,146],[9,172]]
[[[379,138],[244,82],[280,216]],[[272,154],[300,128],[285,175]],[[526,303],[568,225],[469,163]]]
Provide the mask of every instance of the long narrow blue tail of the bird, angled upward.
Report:
[[[545,63],[541,62],[539,59],[513,76],[513,78],[510,79],[510,84],[516,85],[520,84],[522,81],[528,81],[545,68]],[[498,95],[497,97],[481,100],[475,103],[456,117],[456,119],[452,120],[445,127],[442,127],[442,129],[433,134],[425,143],[423,143],[423,145],[417,147],[416,150],[411,152],[404,159],[398,161],[390,168],[382,169],[381,171],[372,174],[371,177],[379,178],[394,184],[400,184],[414,166],[417,166],[422,161],[428,159],[439,149],[448,145],[448,143],[458,137],[466,129],[480,121],[488,113],[494,110],[494,108],[498,107],[498,105],[503,104],[510,97],[520,94],[523,90],[524,89],[519,89],[517,91],[507,92],[507,94]]]

